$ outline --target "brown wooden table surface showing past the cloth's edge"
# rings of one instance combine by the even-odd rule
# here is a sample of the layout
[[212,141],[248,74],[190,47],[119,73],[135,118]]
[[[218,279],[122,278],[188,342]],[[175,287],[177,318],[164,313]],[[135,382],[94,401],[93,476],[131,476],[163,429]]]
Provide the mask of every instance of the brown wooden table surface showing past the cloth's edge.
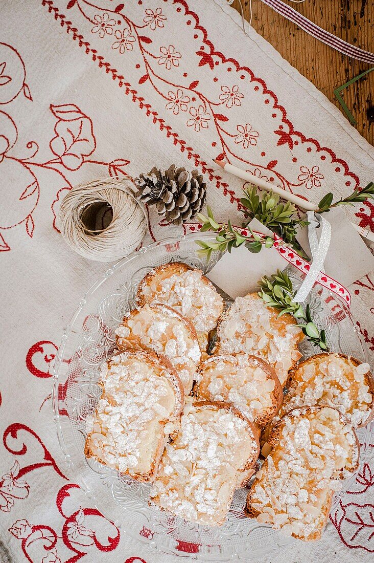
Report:
[[[300,4],[283,1],[344,41],[374,51],[373,0],[305,0]],[[242,0],[242,5],[244,16],[249,20],[249,0]],[[233,7],[240,13],[237,0]],[[335,88],[369,69],[370,65],[341,55],[317,41],[261,0],[252,0],[252,11],[252,26],[256,32],[343,111],[334,95]],[[374,71],[346,88],[342,95],[357,121],[354,127],[374,145]]]

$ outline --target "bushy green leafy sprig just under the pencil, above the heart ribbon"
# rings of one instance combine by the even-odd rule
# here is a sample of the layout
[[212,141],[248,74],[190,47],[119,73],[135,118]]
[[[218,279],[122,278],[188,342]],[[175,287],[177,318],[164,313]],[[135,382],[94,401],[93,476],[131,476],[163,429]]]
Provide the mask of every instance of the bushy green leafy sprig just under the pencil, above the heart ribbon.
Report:
[[[290,244],[300,256],[307,258],[296,240],[299,227],[309,225],[305,219],[296,216],[296,207],[291,202],[280,203],[280,196],[273,191],[256,193],[256,186],[249,185],[244,189],[245,197],[240,202],[245,207],[247,223],[253,218],[258,219],[274,233],[277,233],[285,243]],[[247,226],[247,223],[243,226]]]

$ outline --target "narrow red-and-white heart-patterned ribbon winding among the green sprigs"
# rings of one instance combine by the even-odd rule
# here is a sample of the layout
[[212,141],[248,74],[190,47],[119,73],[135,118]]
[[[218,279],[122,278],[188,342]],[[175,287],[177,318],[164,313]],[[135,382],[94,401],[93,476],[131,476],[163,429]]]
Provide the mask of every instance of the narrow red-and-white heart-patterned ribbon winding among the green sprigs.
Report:
[[[202,227],[202,224],[190,223],[184,226],[186,227],[186,230],[187,229],[190,230],[191,233],[198,233]],[[242,229],[241,227],[238,227],[236,225],[233,225],[233,227],[238,232],[240,232],[240,234],[244,236],[250,235],[250,231],[246,229]],[[262,237],[267,236],[264,235],[263,233],[258,233],[257,231],[254,232],[256,235]],[[295,266],[295,268],[298,269],[300,272],[303,272],[303,274],[307,274],[308,271],[310,270],[310,264],[306,260],[304,260],[304,258],[301,258],[301,256],[299,256],[298,253],[292,251],[292,248],[284,246],[283,239],[281,239],[280,236],[274,234],[274,239],[275,242],[273,248],[276,248],[276,250],[278,251],[278,253],[280,253],[282,258],[284,258],[287,262],[292,264],[292,266]],[[335,293],[338,297],[340,297],[340,299],[342,299],[346,303],[346,305],[348,305],[348,307],[350,306],[351,296],[348,289],[346,289],[344,285],[341,285],[334,278],[330,278],[330,276],[325,274],[325,272],[319,272],[316,281],[317,283],[319,283],[319,285],[322,285],[322,287],[325,287],[326,289],[328,289],[328,291],[331,291],[332,293]]]

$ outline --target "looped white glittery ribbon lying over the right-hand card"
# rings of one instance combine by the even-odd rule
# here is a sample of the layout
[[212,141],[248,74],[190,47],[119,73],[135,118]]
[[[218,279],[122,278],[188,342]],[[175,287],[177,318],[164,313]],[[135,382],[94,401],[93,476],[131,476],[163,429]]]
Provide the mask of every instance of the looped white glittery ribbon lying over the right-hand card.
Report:
[[[296,303],[305,301],[317,281],[319,272],[323,271],[323,262],[325,262],[331,240],[331,225],[324,217],[321,217],[319,213],[315,215],[313,211],[308,211],[307,217],[309,221],[308,239],[313,261],[310,264],[310,269],[305,276],[304,282],[300,285],[299,291],[295,295],[294,301]],[[317,227],[322,227],[319,242]]]

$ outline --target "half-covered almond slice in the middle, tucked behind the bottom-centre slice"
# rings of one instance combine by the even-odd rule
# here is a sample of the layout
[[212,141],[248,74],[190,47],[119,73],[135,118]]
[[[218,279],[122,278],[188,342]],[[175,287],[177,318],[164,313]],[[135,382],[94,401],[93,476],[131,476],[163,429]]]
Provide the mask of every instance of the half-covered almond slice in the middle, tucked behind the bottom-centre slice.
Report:
[[282,404],[282,387],[264,360],[244,354],[210,356],[199,368],[194,393],[200,399],[232,403],[249,421],[263,427]]

